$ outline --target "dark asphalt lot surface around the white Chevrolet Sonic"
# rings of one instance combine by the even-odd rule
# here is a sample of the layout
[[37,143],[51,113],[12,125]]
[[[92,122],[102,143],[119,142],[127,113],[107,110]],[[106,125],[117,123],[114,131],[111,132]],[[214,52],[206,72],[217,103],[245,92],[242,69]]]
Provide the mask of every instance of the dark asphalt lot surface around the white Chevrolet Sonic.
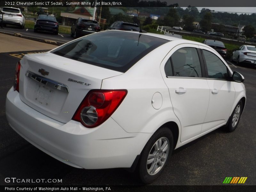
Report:
[[[30,44],[30,53],[47,50],[43,45],[40,50],[33,46],[36,43]],[[11,47],[17,45],[10,43],[8,50],[0,47],[0,185],[17,185],[6,183],[6,177],[62,179],[62,183],[54,185],[140,185],[134,174],[124,169],[70,167],[35,148],[12,130],[5,116],[6,94],[12,87],[17,61],[28,51],[11,51]],[[226,177],[248,177],[243,185],[256,185],[256,68],[228,64],[245,77],[247,101],[236,131],[227,133],[220,128],[178,148],[163,174],[151,185],[223,185]]]

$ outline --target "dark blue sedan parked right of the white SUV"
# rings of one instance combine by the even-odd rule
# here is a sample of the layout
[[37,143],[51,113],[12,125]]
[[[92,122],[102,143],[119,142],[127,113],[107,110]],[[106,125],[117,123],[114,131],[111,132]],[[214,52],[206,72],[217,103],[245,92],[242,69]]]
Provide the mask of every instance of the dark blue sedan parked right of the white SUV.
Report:
[[59,34],[59,23],[56,18],[52,15],[38,15],[37,18],[34,18],[35,26],[34,32],[46,31],[52,32],[55,35]]

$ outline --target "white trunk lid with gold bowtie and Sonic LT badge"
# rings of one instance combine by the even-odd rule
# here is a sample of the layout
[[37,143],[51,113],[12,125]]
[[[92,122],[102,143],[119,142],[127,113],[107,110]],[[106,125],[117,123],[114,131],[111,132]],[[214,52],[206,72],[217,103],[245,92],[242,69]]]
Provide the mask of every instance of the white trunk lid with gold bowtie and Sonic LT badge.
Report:
[[20,99],[67,123],[90,90],[100,89],[103,79],[121,74],[51,52],[26,55],[21,60]]

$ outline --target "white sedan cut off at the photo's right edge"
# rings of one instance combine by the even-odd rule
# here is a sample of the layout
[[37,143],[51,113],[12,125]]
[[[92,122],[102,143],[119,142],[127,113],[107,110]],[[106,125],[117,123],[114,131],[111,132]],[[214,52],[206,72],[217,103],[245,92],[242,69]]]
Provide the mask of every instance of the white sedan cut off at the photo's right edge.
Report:
[[256,47],[252,45],[242,45],[231,54],[231,61],[239,63],[256,64]]

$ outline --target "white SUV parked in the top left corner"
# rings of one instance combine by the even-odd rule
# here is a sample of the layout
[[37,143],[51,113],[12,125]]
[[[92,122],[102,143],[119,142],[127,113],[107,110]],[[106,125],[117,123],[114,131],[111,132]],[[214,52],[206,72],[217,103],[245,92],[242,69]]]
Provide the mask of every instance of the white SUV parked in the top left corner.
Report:
[[[25,26],[25,17],[19,8],[3,7],[3,26],[15,25],[23,29]],[[2,13],[0,13],[0,23],[2,22]],[[1,26],[1,24],[0,24]]]

